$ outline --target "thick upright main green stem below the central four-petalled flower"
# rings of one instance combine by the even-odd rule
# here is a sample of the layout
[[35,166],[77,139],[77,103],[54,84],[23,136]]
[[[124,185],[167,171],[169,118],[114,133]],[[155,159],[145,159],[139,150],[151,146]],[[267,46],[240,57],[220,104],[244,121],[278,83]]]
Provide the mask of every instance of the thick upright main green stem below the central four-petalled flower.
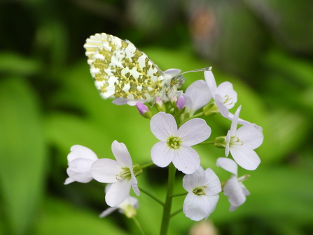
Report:
[[165,199],[165,205],[163,208],[162,224],[160,235],[166,235],[169,228],[169,219],[171,218],[171,208],[172,208],[172,194],[174,192],[174,182],[175,182],[176,168],[173,163],[169,164],[169,178],[167,182],[167,194]]

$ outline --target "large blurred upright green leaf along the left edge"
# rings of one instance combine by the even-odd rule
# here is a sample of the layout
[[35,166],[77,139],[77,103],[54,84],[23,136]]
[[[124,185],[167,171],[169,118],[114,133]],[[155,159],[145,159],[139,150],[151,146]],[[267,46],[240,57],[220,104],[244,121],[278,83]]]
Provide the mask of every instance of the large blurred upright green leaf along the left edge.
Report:
[[25,234],[43,196],[46,148],[39,107],[23,79],[0,84],[0,187],[5,234]]

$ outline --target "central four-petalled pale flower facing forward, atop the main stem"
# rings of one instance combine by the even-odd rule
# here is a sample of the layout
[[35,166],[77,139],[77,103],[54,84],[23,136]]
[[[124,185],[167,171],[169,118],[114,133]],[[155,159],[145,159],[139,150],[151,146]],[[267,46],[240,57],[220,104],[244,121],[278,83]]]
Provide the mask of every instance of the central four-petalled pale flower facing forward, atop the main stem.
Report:
[[200,166],[200,156],[190,146],[197,145],[211,135],[211,128],[203,119],[191,119],[177,130],[174,117],[165,112],[155,114],[150,122],[153,135],[160,140],[151,149],[155,165],[174,166],[185,174],[194,173]]

